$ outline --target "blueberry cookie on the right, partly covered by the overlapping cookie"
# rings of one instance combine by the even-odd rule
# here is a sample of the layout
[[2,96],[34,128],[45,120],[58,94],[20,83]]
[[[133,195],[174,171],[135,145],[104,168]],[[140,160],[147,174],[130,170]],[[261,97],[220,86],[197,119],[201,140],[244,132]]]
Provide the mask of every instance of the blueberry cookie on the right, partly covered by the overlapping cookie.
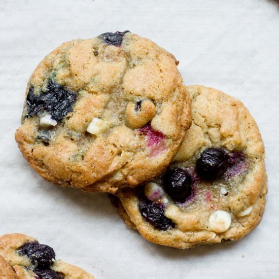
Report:
[[213,88],[187,91],[193,122],[168,169],[118,193],[128,226],[180,249],[242,238],[259,224],[267,193],[264,146],[249,111]]

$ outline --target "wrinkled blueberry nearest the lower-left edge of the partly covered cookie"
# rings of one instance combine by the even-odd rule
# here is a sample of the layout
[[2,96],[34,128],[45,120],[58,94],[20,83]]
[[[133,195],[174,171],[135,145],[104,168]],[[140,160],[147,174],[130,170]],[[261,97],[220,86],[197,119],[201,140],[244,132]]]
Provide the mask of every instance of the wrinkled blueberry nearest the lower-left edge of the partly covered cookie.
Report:
[[140,203],[140,212],[145,220],[156,229],[165,231],[175,227],[175,223],[164,215],[165,207],[163,204],[142,201]]

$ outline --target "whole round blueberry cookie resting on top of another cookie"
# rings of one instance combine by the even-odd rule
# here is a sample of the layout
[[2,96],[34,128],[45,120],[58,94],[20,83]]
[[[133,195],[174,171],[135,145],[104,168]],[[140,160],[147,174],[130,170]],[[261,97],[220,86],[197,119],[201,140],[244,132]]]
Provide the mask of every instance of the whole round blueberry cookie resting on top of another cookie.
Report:
[[45,179],[87,191],[153,179],[191,124],[177,64],[129,31],[62,44],[28,82],[21,152]]

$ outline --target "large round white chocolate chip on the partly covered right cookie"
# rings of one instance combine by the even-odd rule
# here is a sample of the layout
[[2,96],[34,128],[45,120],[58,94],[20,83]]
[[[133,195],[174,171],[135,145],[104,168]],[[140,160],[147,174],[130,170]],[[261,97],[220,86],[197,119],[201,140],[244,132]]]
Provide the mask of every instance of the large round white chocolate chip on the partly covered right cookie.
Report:
[[231,216],[226,211],[217,210],[210,216],[209,223],[215,232],[224,232],[230,227]]

